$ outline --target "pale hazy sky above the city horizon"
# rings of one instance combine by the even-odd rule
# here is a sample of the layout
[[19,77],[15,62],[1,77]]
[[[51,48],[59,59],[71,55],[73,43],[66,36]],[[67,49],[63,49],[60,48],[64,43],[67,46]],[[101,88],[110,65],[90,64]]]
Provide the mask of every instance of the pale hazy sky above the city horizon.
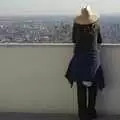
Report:
[[[99,13],[120,13],[120,0],[86,0]],[[0,0],[0,15],[76,14],[84,0]]]

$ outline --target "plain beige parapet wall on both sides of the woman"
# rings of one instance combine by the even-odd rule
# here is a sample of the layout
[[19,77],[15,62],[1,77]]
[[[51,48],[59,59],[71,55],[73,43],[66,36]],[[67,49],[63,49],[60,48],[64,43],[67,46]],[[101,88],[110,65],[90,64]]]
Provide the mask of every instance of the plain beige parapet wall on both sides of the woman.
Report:
[[[97,110],[120,114],[120,46],[103,46],[106,88]],[[73,45],[0,47],[0,112],[77,114],[76,84],[64,77]]]

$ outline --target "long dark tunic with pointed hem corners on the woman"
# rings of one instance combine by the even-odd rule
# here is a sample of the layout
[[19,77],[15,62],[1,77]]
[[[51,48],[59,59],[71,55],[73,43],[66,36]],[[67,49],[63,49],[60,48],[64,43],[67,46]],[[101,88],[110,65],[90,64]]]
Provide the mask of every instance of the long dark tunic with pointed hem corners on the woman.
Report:
[[99,22],[84,25],[74,22],[72,42],[75,43],[74,54],[65,77],[71,85],[73,82],[92,81],[96,82],[100,89],[104,88],[103,70],[97,47],[102,43]]

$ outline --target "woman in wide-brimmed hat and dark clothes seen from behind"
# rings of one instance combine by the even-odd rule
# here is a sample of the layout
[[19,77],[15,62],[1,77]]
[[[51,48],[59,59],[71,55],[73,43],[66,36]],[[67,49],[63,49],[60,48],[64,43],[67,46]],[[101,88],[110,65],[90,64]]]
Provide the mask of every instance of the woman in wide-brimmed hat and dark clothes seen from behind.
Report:
[[72,42],[75,43],[74,55],[65,77],[71,87],[73,82],[77,83],[80,120],[92,120],[97,117],[97,90],[102,90],[105,84],[99,59],[99,47],[102,43],[99,19],[88,5],[82,8],[81,15],[74,20]]

